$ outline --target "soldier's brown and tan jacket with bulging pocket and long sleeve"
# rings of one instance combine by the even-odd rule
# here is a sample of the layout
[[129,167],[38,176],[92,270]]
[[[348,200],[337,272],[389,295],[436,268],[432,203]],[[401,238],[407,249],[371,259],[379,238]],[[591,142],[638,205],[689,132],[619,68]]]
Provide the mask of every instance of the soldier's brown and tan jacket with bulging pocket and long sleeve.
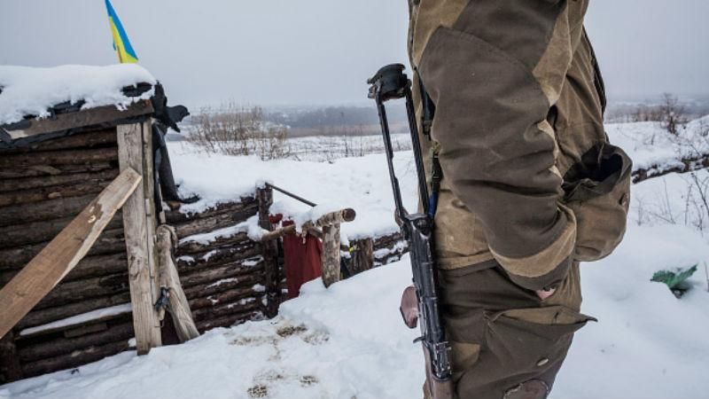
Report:
[[538,290],[622,239],[631,161],[604,133],[587,7],[409,0],[410,62],[435,104],[432,140],[422,142],[443,171],[440,268],[496,262]]

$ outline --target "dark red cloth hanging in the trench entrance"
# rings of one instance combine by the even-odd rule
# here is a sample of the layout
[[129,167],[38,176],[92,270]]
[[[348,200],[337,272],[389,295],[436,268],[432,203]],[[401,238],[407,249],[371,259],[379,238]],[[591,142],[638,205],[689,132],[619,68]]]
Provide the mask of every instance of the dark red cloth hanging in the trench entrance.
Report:
[[[272,223],[278,221],[278,215],[271,217]],[[291,221],[283,222],[284,226],[291,224]],[[300,286],[323,275],[320,258],[320,254],[323,253],[323,243],[310,234],[305,237],[289,234],[283,238],[283,252],[288,298],[295,298],[300,294]]]

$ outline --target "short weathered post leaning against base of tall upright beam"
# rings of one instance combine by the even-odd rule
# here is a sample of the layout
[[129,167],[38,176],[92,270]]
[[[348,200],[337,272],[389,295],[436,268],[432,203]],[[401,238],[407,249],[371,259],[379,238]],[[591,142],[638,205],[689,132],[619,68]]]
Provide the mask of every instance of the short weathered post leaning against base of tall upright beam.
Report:
[[175,324],[175,332],[181,342],[199,337],[197,326],[192,320],[192,312],[187,297],[184,295],[180,276],[172,257],[172,248],[177,243],[175,229],[161,225],[157,232],[158,263],[160,264],[160,288],[165,288],[169,293],[168,310]]

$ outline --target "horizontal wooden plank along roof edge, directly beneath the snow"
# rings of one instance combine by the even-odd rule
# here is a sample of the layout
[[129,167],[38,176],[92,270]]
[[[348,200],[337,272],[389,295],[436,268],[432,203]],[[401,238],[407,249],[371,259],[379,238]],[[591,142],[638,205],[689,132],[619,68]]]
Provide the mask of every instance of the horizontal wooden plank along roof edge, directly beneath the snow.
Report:
[[29,121],[27,128],[12,129],[9,125],[4,125],[3,128],[15,140],[22,137],[32,137],[44,133],[117,121],[153,112],[152,104],[149,100],[140,100],[122,111],[116,106],[97,106],[78,113],[61,113],[52,119],[34,119]]

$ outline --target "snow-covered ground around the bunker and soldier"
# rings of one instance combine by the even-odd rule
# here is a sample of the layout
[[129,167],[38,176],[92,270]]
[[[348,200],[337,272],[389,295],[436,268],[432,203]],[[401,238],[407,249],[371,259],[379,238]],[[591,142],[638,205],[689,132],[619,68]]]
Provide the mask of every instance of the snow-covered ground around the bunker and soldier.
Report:
[[[651,124],[609,126],[612,142],[640,163],[671,164],[666,145],[651,145]],[[382,154],[331,162],[225,157],[171,143],[183,193],[214,205],[269,181],[328,207],[354,207],[350,239],[395,231],[391,189]],[[415,200],[409,153],[396,154],[409,207]],[[694,399],[709,394],[709,293],[704,262],[707,210],[702,179],[668,175],[633,187],[631,223],[619,249],[582,267],[582,311],[597,317],[574,340],[551,397]],[[697,184],[697,182],[699,182]],[[692,188],[692,187],[697,188]],[[276,195],[275,210],[307,207]],[[650,281],[655,271],[698,264],[682,299]],[[148,356],[125,352],[75,372],[56,372],[0,387],[0,398],[333,398],[421,397],[423,355],[401,324],[401,290],[408,258],[325,290],[319,280],[284,303],[270,321],[215,329],[182,346]]]

